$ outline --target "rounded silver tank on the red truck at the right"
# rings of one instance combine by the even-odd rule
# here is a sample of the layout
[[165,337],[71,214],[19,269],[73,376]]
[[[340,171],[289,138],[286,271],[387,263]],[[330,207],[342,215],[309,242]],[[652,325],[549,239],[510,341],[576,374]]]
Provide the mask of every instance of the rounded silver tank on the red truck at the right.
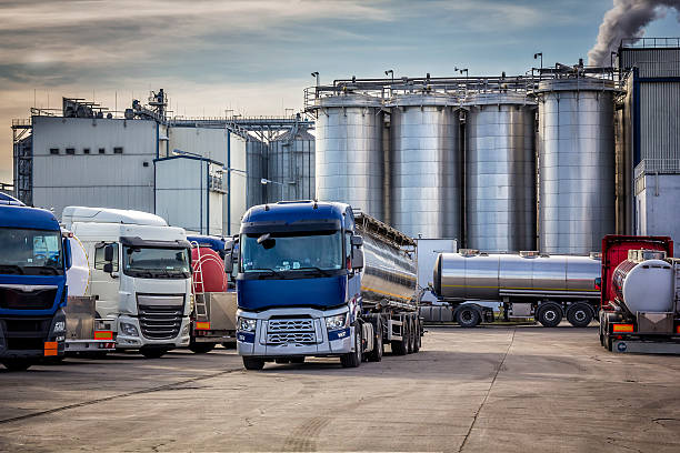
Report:
[[673,266],[664,260],[666,252],[630,250],[612,274],[616,302],[631,314],[638,312],[672,312],[676,296]]

